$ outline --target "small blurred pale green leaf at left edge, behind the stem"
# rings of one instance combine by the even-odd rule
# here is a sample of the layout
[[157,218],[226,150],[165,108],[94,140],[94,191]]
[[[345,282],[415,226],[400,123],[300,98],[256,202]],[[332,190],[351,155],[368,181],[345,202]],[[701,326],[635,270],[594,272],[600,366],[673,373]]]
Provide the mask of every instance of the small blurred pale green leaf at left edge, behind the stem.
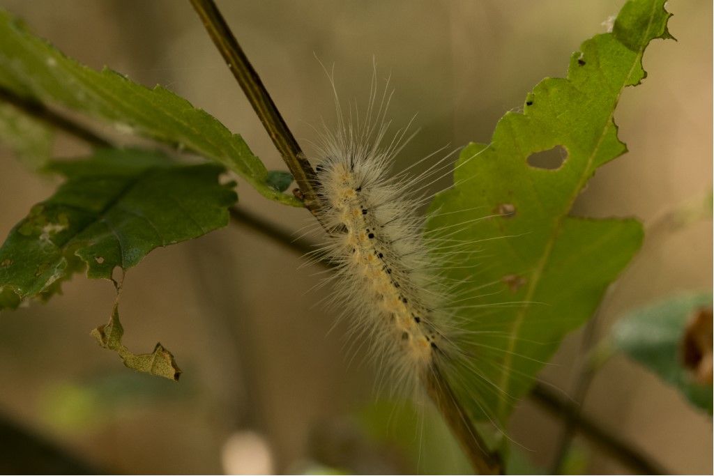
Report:
[[54,134],[44,123],[0,103],[0,143],[8,146],[27,168],[37,170],[49,161]]

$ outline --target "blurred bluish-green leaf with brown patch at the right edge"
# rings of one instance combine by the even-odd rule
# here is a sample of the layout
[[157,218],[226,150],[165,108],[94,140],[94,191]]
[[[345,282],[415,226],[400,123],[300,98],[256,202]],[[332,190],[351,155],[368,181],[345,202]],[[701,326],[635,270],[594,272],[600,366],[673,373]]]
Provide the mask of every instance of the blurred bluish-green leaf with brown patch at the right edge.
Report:
[[678,295],[633,310],[618,320],[612,338],[615,348],[712,413],[712,293]]

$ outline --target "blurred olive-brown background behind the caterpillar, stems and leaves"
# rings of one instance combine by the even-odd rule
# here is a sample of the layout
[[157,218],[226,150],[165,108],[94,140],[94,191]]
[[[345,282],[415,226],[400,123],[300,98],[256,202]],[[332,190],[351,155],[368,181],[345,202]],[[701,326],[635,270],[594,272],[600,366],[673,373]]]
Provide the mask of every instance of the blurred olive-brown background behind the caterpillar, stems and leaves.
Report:
[[[284,168],[188,1],[1,4],[84,64],[168,86],[241,133],[268,168]],[[375,58],[378,74],[391,74],[396,89],[394,122],[418,114],[421,131],[403,153],[409,158],[447,145],[488,143],[498,118],[520,108],[543,77],[564,76],[571,51],[605,31],[602,22],[623,1],[218,4],[307,150],[315,138],[311,126],[334,118],[318,59],[328,69],[335,65],[343,101],[365,103]],[[710,219],[661,226],[662,217],[683,204],[703,203],[712,187],[712,3],[671,2],[670,10],[678,42],[650,45],[648,78],[625,91],[615,114],[631,152],[600,168],[576,205],[575,213],[585,216],[637,216],[653,230],[605,299],[595,338],[626,310],[712,286]],[[57,156],[86,151],[66,136],[54,145]],[[4,237],[56,181],[28,171],[1,144],[0,170]],[[239,193],[241,208],[296,236],[310,224],[305,211],[269,203],[245,183]],[[316,304],[323,291],[312,288],[321,269],[298,269],[301,264],[299,255],[231,224],[155,250],[131,269],[121,300],[124,343],[143,352],[160,340],[184,371],[178,384],[125,369],[89,336],[109,317],[109,282],[76,277],[47,305],[3,313],[1,425],[14,422],[106,472],[463,470],[443,428],[427,431],[428,437],[403,430],[400,415],[410,410],[375,401],[373,368],[361,364],[359,354],[351,362],[345,329],[328,332],[334,316]],[[582,341],[581,331],[570,335],[541,380],[572,393]],[[614,358],[595,376],[583,412],[671,472],[713,471],[710,417],[625,358]],[[427,428],[431,418],[424,416]],[[548,468],[562,427],[526,399],[511,437],[523,457]],[[573,472],[631,471],[581,435],[573,448]],[[20,450],[6,447],[18,465]],[[0,468],[13,464],[7,455],[1,459]]]

